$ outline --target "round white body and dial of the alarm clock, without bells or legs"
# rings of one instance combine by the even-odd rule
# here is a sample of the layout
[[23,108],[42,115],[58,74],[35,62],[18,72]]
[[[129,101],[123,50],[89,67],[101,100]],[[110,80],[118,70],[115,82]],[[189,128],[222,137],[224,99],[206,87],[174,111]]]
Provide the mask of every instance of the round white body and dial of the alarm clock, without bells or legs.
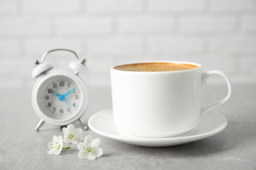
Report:
[[62,71],[38,80],[32,92],[32,103],[40,118],[64,125],[81,117],[89,102],[78,76]]

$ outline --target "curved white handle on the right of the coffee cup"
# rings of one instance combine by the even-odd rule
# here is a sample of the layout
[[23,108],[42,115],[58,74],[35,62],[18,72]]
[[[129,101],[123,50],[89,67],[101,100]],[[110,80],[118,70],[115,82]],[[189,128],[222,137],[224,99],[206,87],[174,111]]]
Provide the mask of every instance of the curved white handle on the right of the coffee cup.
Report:
[[207,71],[206,73],[203,73],[202,74],[202,84],[205,84],[205,82],[209,78],[209,76],[213,76],[213,75],[223,76],[224,80],[226,80],[226,84],[228,84],[228,94],[223,99],[216,101],[215,103],[211,103],[210,105],[207,105],[205,107],[202,107],[201,115],[205,114],[205,112],[208,112],[211,109],[214,109],[215,107],[223,105],[224,103],[226,103],[226,101],[228,101],[228,99],[230,99],[230,96],[231,96],[232,85],[230,82],[230,78],[223,71],[212,70],[212,71]]

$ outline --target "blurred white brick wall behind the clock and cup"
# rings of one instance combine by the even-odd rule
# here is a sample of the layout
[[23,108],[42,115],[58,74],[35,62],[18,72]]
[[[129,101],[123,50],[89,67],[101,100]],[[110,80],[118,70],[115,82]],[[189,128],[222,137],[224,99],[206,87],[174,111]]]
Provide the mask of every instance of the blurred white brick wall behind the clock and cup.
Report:
[[[33,60],[70,48],[87,58],[92,86],[110,67],[184,60],[256,81],[255,0],[0,0],[0,88],[32,87]],[[72,54],[46,60],[66,68]]]

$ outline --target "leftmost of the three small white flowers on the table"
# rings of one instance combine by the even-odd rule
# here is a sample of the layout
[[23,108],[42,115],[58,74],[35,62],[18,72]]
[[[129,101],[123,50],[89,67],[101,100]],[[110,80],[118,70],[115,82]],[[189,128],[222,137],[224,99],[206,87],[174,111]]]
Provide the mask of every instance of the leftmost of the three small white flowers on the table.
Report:
[[62,136],[56,137],[55,135],[53,136],[53,141],[48,143],[48,148],[50,150],[47,151],[47,154],[54,154],[58,155],[60,154],[63,146],[63,139]]

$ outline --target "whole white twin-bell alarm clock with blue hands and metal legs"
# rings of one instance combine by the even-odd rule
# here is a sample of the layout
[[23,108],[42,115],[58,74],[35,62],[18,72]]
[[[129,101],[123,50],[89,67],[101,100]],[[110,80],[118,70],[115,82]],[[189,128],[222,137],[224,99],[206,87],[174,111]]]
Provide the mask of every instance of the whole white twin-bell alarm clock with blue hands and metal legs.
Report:
[[[64,50],[75,54],[77,61],[68,66],[73,70],[52,70],[53,66],[43,62],[47,54],[57,50]],[[68,49],[54,49],[43,54],[32,71],[33,78],[39,77],[32,91],[32,105],[37,116],[41,118],[35,130],[44,122],[56,126],[66,126],[78,120],[79,124],[87,129],[81,120],[89,105],[87,76],[89,71],[85,66],[85,59],[80,61],[77,54]]]

